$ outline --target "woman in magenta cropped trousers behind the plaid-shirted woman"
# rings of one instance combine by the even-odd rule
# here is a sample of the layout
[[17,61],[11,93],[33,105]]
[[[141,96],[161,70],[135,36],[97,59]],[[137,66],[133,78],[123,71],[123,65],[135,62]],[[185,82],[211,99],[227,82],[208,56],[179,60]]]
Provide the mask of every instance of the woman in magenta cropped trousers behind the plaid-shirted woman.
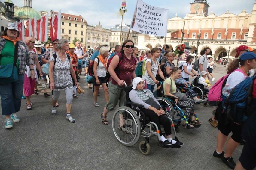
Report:
[[[26,37],[26,39],[25,39],[25,43],[29,50],[29,55],[33,61],[33,69],[39,70],[39,75],[42,77],[43,74],[41,72],[41,66],[39,64],[38,57],[37,57],[36,51],[34,49],[35,41],[36,41],[36,39],[34,37]],[[30,98],[31,98],[31,95],[34,94],[35,81],[37,81],[37,83],[38,83],[37,72],[35,71],[35,78],[31,77],[31,72],[30,72],[29,66],[26,66],[23,89],[24,89],[24,95],[26,97],[27,110],[30,110],[33,105],[33,103],[30,101]]]

